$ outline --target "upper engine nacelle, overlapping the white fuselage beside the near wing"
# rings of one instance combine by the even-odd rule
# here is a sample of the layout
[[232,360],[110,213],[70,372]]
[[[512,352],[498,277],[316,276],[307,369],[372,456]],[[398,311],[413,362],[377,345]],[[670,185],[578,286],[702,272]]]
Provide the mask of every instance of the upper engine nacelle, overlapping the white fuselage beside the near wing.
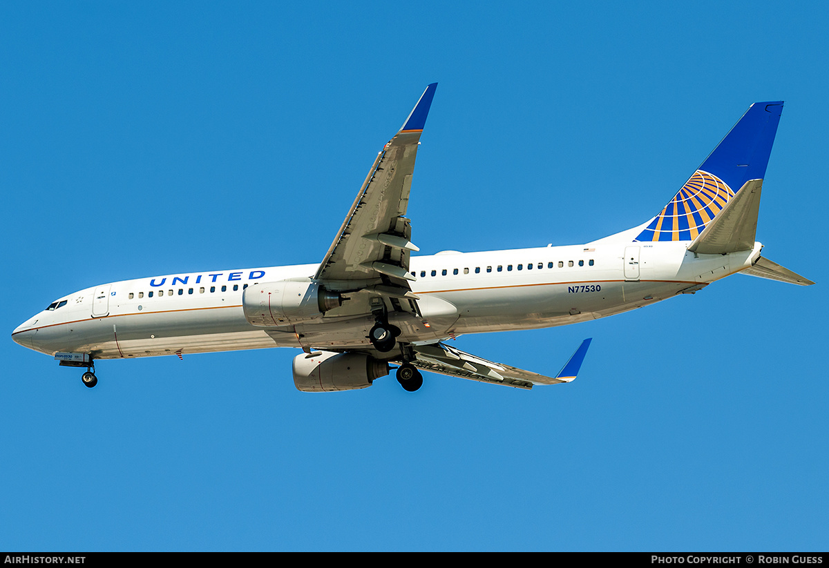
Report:
[[263,282],[245,288],[242,309],[251,325],[273,327],[314,320],[342,306],[342,296],[317,282]]

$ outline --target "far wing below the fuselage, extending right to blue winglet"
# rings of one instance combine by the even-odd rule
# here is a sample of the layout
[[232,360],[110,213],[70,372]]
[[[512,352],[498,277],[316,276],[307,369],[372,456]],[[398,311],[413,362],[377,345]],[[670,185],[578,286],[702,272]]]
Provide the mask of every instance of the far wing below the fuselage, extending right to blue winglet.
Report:
[[502,363],[492,363],[475,355],[463,353],[447,344],[413,345],[416,359],[411,363],[432,373],[450,377],[469,378],[482,383],[503,384],[508,387],[532,388],[533,385],[570,383],[579,373],[584,355],[592,339],[584,339],[555,377],[545,377]]

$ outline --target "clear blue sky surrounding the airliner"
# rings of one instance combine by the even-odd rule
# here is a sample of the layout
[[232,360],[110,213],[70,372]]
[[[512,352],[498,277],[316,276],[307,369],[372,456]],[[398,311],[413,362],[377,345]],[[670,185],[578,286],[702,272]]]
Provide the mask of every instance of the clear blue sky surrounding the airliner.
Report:
[[[5,3],[0,550],[825,551],[827,9]],[[102,362],[87,389],[12,343],[96,283],[318,262],[433,81],[423,253],[642,223],[783,99],[758,238],[817,286],[458,339],[555,373],[594,338],[531,392],[305,394],[290,349]]]

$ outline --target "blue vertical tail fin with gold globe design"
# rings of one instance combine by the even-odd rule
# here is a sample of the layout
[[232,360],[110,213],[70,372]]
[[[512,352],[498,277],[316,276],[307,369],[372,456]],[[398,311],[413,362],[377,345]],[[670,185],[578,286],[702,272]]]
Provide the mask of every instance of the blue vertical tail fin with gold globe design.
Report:
[[762,180],[783,101],[754,103],[636,241],[692,241],[749,180]]

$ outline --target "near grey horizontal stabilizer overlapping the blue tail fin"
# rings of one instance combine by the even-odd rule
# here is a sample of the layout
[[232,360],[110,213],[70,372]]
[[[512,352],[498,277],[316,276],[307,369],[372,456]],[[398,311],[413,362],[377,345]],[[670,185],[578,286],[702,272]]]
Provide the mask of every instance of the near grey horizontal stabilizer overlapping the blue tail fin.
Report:
[[746,181],[720,214],[697,235],[688,250],[699,254],[726,254],[754,248],[762,189],[763,180]]

